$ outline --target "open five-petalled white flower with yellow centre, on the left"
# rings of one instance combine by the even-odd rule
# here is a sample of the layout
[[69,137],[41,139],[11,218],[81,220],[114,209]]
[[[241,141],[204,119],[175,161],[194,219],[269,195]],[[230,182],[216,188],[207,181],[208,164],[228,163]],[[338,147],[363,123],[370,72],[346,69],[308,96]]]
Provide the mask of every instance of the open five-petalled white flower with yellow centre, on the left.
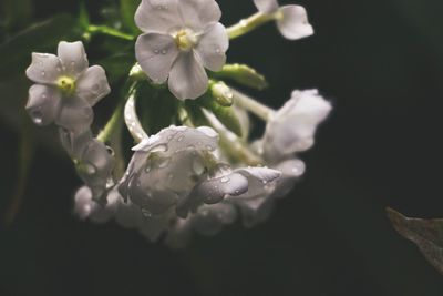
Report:
[[110,93],[103,68],[89,68],[83,43],[60,42],[59,55],[32,53],[27,75],[37,84],[29,90],[27,110],[34,123],[55,122],[75,133],[87,130],[91,106]]

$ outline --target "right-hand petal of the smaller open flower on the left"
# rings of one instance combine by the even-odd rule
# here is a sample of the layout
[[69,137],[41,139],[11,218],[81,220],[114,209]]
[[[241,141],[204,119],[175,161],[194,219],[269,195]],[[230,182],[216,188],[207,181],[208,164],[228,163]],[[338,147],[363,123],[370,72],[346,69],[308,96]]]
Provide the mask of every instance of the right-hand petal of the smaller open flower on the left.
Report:
[[91,106],[111,92],[106,73],[100,65],[89,68],[76,81],[76,96],[86,100]]

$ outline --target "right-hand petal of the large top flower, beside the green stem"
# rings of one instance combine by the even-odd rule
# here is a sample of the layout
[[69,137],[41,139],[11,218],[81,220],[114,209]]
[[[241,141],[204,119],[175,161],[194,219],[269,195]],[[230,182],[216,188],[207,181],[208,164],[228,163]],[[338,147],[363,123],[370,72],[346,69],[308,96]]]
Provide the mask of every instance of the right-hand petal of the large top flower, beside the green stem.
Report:
[[229,48],[229,38],[226,28],[217,22],[210,24],[195,49],[202,59],[203,65],[210,71],[220,71],[226,62],[226,51]]

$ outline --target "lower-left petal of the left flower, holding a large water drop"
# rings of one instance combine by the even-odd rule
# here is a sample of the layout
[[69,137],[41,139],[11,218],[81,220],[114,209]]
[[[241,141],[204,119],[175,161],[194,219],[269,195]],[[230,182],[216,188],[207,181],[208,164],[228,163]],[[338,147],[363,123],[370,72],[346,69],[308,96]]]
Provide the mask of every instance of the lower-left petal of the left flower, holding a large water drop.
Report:
[[27,111],[38,125],[52,123],[60,112],[61,94],[52,86],[34,84],[29,89]]

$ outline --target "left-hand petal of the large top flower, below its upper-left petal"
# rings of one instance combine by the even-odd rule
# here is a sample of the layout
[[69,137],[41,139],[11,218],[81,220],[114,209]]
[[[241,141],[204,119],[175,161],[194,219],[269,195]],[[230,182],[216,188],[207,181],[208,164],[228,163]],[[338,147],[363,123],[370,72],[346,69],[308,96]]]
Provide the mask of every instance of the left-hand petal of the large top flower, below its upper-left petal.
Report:
[[150,79],[155,83],[164,83],[178,57],[178,49],[171,35],[148,33],[138,37],[135,55]]

